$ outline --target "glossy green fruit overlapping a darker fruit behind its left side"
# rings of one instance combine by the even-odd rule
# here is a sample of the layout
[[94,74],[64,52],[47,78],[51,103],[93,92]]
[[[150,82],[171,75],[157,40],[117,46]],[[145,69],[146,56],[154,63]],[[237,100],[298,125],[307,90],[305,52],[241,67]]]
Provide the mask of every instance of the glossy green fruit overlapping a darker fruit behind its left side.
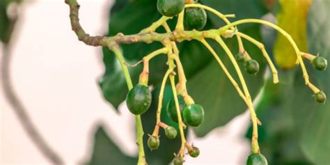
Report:
[[184,108],[183,116],[186,123],[193,127],[198,127],[204,120],[204,109],[201,105],[191,104]]

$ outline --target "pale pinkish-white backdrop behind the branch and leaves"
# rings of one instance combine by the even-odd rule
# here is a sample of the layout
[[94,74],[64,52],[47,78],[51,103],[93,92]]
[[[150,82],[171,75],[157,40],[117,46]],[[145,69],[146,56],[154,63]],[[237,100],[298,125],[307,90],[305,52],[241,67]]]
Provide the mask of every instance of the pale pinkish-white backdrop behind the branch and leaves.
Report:
[[[84,29],[106,33],[111,1],[79,3]],[[104,70],[101,49],[77,40],[70,29],[68,6],[62,0],[26,1],[20,12],[12,42],[13,86],[49,145],[65,164],[85,162],[91,155],[95,125],[101,122],[120,149],[134,155],[134,118],[125,104],[118,116],[102,99],[97,86]],[[0,164],[50,164],[22,129],[2,88],[0,96]],[[248,113],[238,116],[203,139],[189,137],[201,155],[187,158],[186,164],[245,164],[249,141],[242,136],[248,118]]]

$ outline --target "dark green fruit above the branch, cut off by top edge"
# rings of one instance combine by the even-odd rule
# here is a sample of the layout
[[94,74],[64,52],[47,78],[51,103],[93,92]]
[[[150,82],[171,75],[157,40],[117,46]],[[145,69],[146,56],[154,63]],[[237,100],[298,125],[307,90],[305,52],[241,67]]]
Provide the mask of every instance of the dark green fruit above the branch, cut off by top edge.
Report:
[[157,10],[166,17],[174,17],[184,9],[184,0],[157,0]]

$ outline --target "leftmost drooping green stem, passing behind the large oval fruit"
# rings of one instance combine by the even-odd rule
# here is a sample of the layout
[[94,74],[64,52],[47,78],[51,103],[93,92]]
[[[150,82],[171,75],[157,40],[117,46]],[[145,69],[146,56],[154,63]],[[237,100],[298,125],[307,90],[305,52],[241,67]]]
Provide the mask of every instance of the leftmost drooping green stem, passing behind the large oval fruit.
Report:
[[[123,73],[125,75],[126,83],[127,83],[127,88],[131,90],[133,88],[132,84],[132,79],[131,76],[129,75],[129,70],[127,66],[125,65],[125,60],[123,57],[122,52],[120,51],[120,48],[118,45],[112,45],[112,47],[109,47],[113,51],[113,53],[116,55],[118,61],[120,62],[120,65],[123,69]],[[146,165],[146,156],[144,153],[144,148],[143,148],[143,127],[142,127],[142,121],[141,121],[141,116],[136,115],[135,116],[135,122],[136,122],[136,144],[139,147],[139,160],[137,165]]]

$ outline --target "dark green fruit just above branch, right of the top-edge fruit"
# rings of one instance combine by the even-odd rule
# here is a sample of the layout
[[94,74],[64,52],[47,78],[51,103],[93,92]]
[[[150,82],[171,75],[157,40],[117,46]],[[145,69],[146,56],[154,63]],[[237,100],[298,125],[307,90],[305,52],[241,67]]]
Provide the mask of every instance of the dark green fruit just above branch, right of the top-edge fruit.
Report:
[[184,13],[184,29],[191,30],[201,30],[204,28],[207,21],[207,15],[203,8],[187,8]]

